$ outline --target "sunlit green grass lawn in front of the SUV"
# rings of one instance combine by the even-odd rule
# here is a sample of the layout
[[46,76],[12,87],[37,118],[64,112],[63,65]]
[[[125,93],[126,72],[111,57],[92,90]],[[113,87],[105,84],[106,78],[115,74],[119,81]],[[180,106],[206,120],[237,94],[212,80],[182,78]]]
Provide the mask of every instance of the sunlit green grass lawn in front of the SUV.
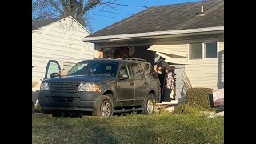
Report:
[[224,143],[224,117],[132,114],[52,118],[32,114],[32,143]]

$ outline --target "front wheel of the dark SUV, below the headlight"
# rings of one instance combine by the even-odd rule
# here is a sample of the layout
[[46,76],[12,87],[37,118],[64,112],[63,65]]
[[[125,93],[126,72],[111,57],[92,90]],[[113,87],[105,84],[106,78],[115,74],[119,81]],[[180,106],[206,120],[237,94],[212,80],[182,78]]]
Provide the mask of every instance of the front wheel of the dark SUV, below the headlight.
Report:
[[112,99],[107,95],[102,95],[92,114],[97,117],[111,117],[113,115]]

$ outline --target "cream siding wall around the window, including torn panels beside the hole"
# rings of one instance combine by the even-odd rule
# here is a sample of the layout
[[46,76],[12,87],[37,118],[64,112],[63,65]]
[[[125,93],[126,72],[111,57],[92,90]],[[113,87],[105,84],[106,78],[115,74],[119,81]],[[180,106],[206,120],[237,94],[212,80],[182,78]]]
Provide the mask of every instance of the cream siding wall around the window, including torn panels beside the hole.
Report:
[[[189,60],[189,46],[193,42],[218,42],[217,58]],[[184,102],[186,90],[190,87],[206,87],[214,90],[224,88],[224,38],[157,42],[148,50],[155,51],[158,56],[166,58],[170,66],[176,67],[176,99],[178,102]],[[182,54],[186,54],[186,57]]]

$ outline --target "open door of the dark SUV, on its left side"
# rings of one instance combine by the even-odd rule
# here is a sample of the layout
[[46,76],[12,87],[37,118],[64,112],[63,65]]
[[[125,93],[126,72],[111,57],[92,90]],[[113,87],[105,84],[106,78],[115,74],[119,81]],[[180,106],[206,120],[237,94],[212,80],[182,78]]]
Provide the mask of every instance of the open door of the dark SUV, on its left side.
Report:
[[45,73],[45,78],[47,79],[50,78],[50,74],[57,73],[61,70],[61,66],[59,66],[58,61],[55,60],[49,60],[46,66],[46,73]]

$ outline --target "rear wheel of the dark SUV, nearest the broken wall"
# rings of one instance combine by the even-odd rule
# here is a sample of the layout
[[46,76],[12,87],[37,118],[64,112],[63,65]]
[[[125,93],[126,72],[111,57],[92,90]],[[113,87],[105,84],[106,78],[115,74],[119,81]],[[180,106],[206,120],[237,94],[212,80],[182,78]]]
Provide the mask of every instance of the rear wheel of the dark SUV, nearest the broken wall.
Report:
[[150,115],[154,114],[154,98],[153,94],[148,94],[144,104],[143,104],[144,110],[142,111],[142,114]]

